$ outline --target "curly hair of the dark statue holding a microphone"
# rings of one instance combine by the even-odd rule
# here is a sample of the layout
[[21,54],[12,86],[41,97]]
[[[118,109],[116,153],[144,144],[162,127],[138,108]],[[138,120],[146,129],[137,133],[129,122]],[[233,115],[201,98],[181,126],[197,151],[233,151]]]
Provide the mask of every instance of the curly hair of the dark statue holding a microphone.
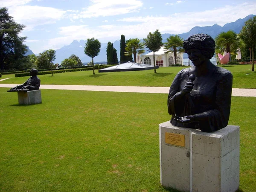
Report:
[[215,41],[207,34],[196,34],[183,41],[185,52],[189,49],[199,49],[206,58],[212,58],[215,53]]

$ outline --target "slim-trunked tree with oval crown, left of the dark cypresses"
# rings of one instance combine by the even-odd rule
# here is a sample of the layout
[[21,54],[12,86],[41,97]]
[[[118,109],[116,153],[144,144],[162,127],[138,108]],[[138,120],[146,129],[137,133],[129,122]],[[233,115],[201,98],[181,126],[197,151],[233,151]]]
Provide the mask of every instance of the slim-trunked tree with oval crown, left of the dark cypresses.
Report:
[[[87,39],[87,42],[85,43],[85,47],[84,47],[84,54],[88,55],[93,59],[94,57],[99,55],[100,47],[101,47],[101,43],[99,42],[98,39],[94,39],[94,38]],[[93,64],[93,75],[94,75],[95,73],[94,73],[93,61],[92,61],[92,64]]]

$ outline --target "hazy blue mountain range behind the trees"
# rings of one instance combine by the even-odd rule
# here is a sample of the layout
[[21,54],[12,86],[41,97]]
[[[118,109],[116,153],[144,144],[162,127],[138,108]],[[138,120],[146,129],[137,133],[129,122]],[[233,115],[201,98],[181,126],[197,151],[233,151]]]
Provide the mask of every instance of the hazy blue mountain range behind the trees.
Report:
[[[190,37],[191,35],[198,34],[198,33],[204,33],[210,35],[212,38],[215,38],[220,32],[227,32],[228,30],[233,30],[236,33],[239,33],[242,29],[242,26],[244,26],[244,22],[250,19],[251,17],[254,17],[255,15],[248,15],[247,17],[244,17],[243,19],[238,19],[235,22],[227,23],[223,27],[219,26],[217,24],[214,24],[213,26],[195,26],[193,27],[189,32],[178,34],[181,38],[184,40]],[[167,41],[167,38],[169,38],[170,35],[174,34],[162,34],[163,42]],[[121,37],[121,35],[120,35]],[[146,38],[146,37],[145,37]],[[126,39],[127,40],[127,39]],[[143,41],[141,39],[141,41]],[[70,45],[61,47],[60,49],[56,50],[56,60],[54,63],[61,64],[61,61],[63,61],[65,58],[68,58],[71,54],[77,55],[82,62],[88,63],[91,61],[91,58],[84,54],[84,45],[86,43],[86,40],[80,40],[76,41],[74,40]],[[101,44],[101,50],[98,56],[94,58],[95,62],[105,62],[107,61],[107,50],[108,43],[102,43]],[[118,59],[120,58],[120,40],[116,40],[113,42],[113,47],[117,51]],[[31,51],[29,49],[29,51]],[[27,52],[27,54],[29,53]],[[32,52],[32,51],[31,51]],[[147,51],[145,54],[148,53]],[[29,55],[29,54],[28,54]],[[186,58],[186,54],[184,54],[184,58]]]

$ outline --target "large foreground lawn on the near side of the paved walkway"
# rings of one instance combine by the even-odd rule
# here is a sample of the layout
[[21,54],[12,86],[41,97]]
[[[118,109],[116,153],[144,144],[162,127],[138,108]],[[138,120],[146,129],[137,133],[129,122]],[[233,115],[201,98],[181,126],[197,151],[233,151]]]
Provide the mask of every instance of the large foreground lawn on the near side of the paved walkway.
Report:
[[[41,90],[18,105],[0,88],[0,191],[166,192],[158,124],[167,94]],[[256,191],[256,98],[233,97],[241,127],[240,189]]]

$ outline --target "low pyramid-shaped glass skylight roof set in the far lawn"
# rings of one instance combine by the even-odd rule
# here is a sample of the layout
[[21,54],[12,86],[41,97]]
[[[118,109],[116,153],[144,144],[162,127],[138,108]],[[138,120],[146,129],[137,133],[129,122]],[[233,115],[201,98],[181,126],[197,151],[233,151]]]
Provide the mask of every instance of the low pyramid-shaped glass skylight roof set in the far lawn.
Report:
[[[158,68],[158,66],[156,66],[156,68]],[[127,63],[101,69],[99,70],[99,73],[114,72],[114,71],[140,71],[140,70],[151,70],[151,69],[154,69],[154,66],[148,65],[148,64],[133,63],[128,61]]]

